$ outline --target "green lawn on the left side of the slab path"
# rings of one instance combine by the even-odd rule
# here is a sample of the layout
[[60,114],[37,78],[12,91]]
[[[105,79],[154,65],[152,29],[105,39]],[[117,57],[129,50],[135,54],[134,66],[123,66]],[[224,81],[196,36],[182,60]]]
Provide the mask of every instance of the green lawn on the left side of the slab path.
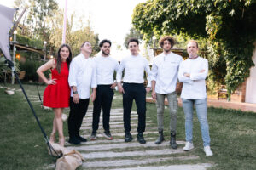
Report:
[[[11,87],[19,89],[17,85]],[[37,95],[36,86],[25,85],[24,88],[28,95]],[[44,91],[44,87],[39,88]],[[49,134],[53,112],[43,111],[40,103],[32,105],[45,132]],[[53,162],[46,150],[44,136],[21,92],[7,95],[0,88],[0,111],[0,169],[38,169]],[[67,124],[64,127],[67,132]]]

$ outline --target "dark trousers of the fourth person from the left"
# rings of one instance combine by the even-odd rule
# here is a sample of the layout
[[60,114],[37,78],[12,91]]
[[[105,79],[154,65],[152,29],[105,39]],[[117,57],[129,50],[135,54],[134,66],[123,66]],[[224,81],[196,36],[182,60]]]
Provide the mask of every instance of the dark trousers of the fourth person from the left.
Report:
[[143,83],[127,83],[124,82],[123,88],[125,94],[123,94],[123,107],[124,107],[124,127],[125,133],[131,131],[131,107],[133,99],[137,105],[137,132],[145,132],[146,127],[146,90]]

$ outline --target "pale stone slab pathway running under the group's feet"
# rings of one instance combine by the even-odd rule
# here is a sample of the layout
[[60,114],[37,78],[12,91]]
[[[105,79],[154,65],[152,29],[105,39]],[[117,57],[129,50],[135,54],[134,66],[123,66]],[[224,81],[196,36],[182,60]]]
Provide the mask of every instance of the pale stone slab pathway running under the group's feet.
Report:
[[[208,163],[200,163],[199,156],[194,156],[182,150],[184,141],[177,141],[178,149],[173,150],[169,141],[166,140],[160,145],[154,144],[158,136],[150,117],[147,117],[147,128],[144,137],[146,144],[137,142],[137,112],[131,112],[131,134],[133,141],[124,142],[123,110],[112,109],[110,128],[113,140],[105,139],[102,136],[102,117],[95,141],[88,141],[80,145],[66,144],[67,148],[79,150],[84,156],[81,169],[119,169],[119,170],[145,170],[145,169],[174,169],[174,170],[205,170],[212,167]],[[81,127],[81,134],[84,138],[90,139],[92,122],[92,108],[89,108]],[[167,139],[168,137],[166,137]],[[181,163],[184,163],[181,165]],[[177,165],[173,165],[175,162]],[[191,163],[195,162],[195,163]]]

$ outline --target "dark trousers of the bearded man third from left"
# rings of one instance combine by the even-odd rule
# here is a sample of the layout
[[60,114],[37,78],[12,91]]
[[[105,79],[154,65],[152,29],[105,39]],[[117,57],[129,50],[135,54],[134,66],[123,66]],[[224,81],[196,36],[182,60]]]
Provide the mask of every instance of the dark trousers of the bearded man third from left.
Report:
[[99,128],[101,110],[103,111],[103,128],[109,131],[110,109],[113,100],[113,89],[111,85],[98,85],[96,88],[96,99],[93,102],[92,131],[96,133]]

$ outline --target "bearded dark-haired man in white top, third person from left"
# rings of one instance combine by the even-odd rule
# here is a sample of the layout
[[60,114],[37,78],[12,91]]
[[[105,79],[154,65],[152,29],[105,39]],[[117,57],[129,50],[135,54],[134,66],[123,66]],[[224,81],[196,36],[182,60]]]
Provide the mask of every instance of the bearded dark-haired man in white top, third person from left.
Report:
[[119,70],[119,62],[113,59],[110,54],[111,42],[109,40],[102,40],[100,42],[102,53],[96,56],[96,99],[93,102],[93,121],[91,140],[96,139],[96,133],[99,127],[101,110],[102,110],[102,125],[104,128],[103,136],[106,139],[113,139],[109,129],[110,109],[113,100],[113,89],[117,83],[113,80],[113,72]]

